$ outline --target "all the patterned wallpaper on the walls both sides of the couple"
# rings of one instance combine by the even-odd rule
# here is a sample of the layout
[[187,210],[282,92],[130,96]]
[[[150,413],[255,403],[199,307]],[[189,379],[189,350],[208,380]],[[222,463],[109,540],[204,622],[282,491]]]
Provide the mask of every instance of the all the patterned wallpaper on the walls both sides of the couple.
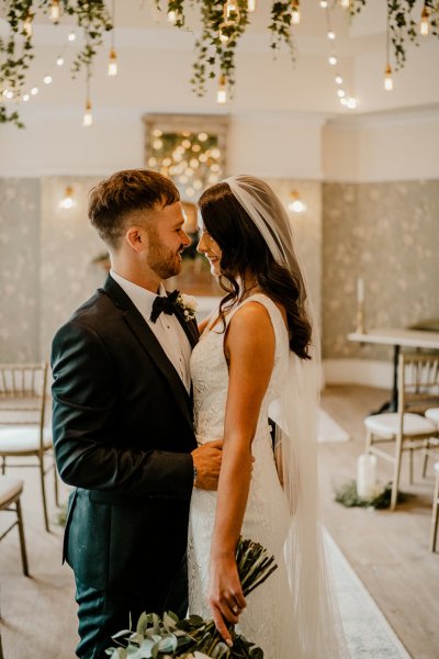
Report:
[[[87,219],[98,179],[0,179],[0,359],[48,356],[56,328],[93,293],[104,246]],[[364,279],[367,326],[439,317],[439,181],[269,181],[284,203],[307,203],[291,221],[317,312],[326,358],[389,359],[386,347],[350,344],[356,282]],[[76,205],[59,208],[72,186]],[[188,291],[189,292],[189,291]]]

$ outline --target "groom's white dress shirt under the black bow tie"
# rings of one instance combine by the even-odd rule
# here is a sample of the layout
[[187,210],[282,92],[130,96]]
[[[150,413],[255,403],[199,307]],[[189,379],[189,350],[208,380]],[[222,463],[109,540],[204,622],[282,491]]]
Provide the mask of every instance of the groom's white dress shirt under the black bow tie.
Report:
[[[117,275],[117,272],[114,272],[114,270],[110,270],[110,275],[140,312],[164,348],[169,361],[180,376],[184,387],[190,391],[191,376],[189,362],[191,358],[191,344],[189,343],[189,338],[182,328],[180,321],[175,314],[168,315],[166,313],[160,313],[157,321],[151,323],[150,314],[157,294],[142,288],[142,286],[128,281],[124,277],[121,277],[121,275]],[[158,294],[166,297],[166,290],[161,283],[159,286]]]

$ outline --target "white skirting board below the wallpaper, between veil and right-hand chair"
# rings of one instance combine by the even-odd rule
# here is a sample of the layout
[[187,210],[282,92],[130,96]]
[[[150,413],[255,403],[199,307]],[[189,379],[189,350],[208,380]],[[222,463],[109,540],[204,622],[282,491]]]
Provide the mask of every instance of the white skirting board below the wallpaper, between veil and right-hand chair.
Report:
[[393,365],[371,359],[324,359],[325,384],[365,384],[391,389]]

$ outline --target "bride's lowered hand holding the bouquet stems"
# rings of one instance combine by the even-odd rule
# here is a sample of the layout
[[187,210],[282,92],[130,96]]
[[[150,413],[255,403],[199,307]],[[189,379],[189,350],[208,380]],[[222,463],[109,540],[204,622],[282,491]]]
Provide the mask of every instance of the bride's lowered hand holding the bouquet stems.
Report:
[[212,558],[207,600],[215,626],[230,647],[232,636],[227,623],[236,625],[246,607],[234,555]]

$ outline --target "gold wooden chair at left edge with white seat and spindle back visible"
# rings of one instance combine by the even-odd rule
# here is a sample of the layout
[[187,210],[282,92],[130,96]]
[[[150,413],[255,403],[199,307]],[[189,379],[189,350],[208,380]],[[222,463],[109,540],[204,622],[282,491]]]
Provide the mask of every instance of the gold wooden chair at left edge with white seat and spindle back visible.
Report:
[[[0,457],[2,473],[7,466],[38,467],[46,530],[49,530],[45,476],[52,469],[55,477],[55,501],[58,505],[58,482],[53,459],[49,428],[45,428],[47,364],[0,365]],[[52,456],[47,465],[47,457]],[[36,458],[29,463],[18,458]],[[14,459],[11,465],[7,460]]]

